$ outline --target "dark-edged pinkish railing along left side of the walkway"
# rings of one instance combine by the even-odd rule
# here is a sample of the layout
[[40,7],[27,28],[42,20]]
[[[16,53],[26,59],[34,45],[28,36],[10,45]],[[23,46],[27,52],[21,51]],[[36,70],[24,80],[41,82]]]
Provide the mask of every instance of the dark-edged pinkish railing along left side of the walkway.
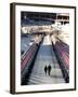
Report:
[[[42,40],[43,38],[41,39],[41,41]],[[29,50],[22,58],[22,61],[21,61],[21,81],[22,81],[21,84],[22,85],[27,84],[41,41],[39,41],[39,43],[36,43],[36,42],[32,43],[32,45],[29,47]]]

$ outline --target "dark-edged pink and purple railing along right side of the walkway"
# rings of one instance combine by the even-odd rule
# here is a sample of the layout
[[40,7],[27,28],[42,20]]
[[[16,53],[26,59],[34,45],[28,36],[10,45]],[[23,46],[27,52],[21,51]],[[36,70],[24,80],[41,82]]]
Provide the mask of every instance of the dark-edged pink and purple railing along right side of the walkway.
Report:
[[64,44],[62,44],[58,41],[55,42],[55,44],[52,43],[52,45],[53,45],[53,51],[55,53],[56,59],[63,72],[63,77],[66,83],[68,83],[69,82],[69,56],[66,52],[68,50],[66,48],[64,50]]

